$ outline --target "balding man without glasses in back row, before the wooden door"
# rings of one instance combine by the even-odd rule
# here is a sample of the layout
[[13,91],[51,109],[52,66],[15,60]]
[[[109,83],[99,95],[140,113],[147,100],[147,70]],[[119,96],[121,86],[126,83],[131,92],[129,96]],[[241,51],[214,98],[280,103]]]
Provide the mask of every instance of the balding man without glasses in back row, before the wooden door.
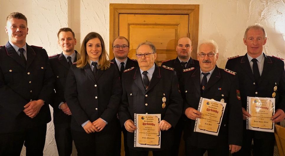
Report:
[[[178,81],[179,81],[179,87],[183,90],[183,86],[181,84],[181,77],[182,77],[182,71],[186,68],[192,68],[192,67],[199,67],[199,62],[197,60],[194,60],[191,58],[191,52],[192,52],[193,46],[192,41],[188,37],[181,37],[178,39],[177,46],[176,46],[176,52],[177,57],[173,60],[163,61],[161,66],[168,66],[171,68],[174,68],[176,71]],[[181,116],[179,119],[174,131],[175,131],[175,140],[174,145],[172,147],[172,155],[177,156],[182,130],[183,130],[183,118],[184,115]]]

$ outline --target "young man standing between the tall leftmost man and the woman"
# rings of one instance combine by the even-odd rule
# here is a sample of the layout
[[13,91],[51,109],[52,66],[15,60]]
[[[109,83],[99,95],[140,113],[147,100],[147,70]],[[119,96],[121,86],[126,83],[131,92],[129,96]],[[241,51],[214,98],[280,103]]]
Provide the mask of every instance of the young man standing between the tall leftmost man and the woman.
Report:
[[77,51],[74,50],[76,38],[71,28],[60,28],[58,45],[62,53],[49,58],[50,66],[55,75],[55,94],[53,96],[53,123],[55,142],[58,155],[71,155],[72,136],[70,129],[71,112],[64,98],[65,81],[72,63],[76,62]]

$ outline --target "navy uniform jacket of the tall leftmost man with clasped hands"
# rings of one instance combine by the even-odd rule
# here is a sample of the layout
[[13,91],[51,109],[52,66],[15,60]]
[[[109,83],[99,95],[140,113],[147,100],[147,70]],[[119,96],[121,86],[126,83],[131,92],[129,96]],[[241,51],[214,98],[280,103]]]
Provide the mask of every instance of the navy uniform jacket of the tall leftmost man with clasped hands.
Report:
[[[45,49],[27,44],[27,66],[8,42],[0,48],[0,133],[23,131],[50,122],[54,77]],[[23,110],[30,100],[45,101],[35,118]]]

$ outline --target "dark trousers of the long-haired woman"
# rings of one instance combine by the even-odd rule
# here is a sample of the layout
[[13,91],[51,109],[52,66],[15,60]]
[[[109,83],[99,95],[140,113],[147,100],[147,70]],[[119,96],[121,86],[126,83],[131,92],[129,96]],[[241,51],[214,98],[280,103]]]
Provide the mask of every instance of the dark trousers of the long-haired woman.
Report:
[[106,132],[103,129],[101,132],[87,134],[86,132],[79,132],[71,129],[71,135],[74,140],[78,156],[116,155],[116,133],[116,131]]

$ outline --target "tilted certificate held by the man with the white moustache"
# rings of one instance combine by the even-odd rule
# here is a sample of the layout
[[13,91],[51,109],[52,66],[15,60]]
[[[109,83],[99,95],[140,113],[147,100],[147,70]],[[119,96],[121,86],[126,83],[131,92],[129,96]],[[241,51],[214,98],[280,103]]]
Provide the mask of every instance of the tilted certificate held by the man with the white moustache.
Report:
[[194,132],[218,135],[227,103],[200,98],[198,111],[202,118],[196,118]]

